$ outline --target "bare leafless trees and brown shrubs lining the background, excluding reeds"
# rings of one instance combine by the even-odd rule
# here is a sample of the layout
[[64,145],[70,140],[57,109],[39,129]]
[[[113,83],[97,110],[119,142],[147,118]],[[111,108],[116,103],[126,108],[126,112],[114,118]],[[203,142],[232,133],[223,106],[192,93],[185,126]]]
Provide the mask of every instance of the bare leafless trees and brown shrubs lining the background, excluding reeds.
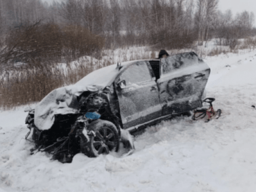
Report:
[[210,38],[234,48],[256,34],[254,19],[221,12],[218,0],[0,0],[0,62],[28,53],[36,60],[35,52],[73,60],[121,46],[188,48]]

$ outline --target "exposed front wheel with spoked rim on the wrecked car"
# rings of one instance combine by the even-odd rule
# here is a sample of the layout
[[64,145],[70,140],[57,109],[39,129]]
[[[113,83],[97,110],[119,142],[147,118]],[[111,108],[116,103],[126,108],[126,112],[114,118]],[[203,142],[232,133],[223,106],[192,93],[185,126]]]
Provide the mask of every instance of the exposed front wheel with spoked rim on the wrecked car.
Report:
[[119,148],[119,134],[115,124],[110,121],[98,119],[88,126],[88,131],[93,130],[88,143],[80,142],[82,153],[88,157],[98,157],[109,154]]

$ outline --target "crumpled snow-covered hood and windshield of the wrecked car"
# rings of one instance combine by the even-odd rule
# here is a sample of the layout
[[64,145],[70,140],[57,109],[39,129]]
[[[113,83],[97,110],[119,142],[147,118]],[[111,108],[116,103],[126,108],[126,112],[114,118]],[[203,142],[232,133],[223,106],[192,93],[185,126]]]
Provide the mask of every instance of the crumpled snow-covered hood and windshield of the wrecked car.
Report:
[[78,113],[77,96],[84,91],[95,92],[107,87],[117,75],[116,65],[110,65],[93,71],[74,85],[51,91],[35,107],[35,126],[40,130],[48,130],[54,124],[55,115]]

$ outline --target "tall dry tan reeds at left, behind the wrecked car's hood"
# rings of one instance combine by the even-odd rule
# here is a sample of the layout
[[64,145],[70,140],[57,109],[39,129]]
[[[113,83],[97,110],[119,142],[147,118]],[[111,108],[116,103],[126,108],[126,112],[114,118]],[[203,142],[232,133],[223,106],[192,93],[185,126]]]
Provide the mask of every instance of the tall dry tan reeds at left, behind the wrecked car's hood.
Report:
[[43,66],[16,71],[0,81],[0,108],[8,110],[19,105],[41,101],[55,88],[74,84],[93,71],[91,66],[77,65],[63,69]]

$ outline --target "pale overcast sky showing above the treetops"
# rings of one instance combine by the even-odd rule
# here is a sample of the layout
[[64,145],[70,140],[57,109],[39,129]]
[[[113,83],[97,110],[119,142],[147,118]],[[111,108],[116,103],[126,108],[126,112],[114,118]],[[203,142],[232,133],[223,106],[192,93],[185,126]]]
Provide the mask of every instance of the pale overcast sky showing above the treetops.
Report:
[[[42,0],[42,1],[46,1],[49,4],[53,2],[53,0]],[[60,2],[62,0],[55,0],[55,1]],[[227,9],[232,10],[233,16],[235,16],[236,13],[238,12],[239,13],[243,12],[244,10],[247,10],[248,12],[254,12],[254,15],[256,16],[256,0],[219,0],[218,8],[222,12],[224,12]],[[255,20],[255,26],[256,26],[256,20]]]

